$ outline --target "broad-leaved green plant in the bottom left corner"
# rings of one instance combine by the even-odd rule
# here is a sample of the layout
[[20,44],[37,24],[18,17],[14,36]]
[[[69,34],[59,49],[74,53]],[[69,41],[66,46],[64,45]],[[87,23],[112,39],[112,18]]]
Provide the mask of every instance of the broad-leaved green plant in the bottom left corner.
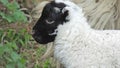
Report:
[[18,47],[15,42],[0,45],[0,59],[6,63],[6,68],[25,68],[25,59],[15,51],[17,49]]

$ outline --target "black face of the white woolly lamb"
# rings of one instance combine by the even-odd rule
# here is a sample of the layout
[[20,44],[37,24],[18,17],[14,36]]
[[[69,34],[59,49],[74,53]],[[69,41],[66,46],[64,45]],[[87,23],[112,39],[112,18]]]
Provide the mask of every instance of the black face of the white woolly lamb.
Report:
[[40,44],[47,44],[54,41],[57,26],[63,24],[66,20],[67,12],[62,13],[66,5],[63,3],[48,3],[42,12],[40,19],[33,27],[33,38]]

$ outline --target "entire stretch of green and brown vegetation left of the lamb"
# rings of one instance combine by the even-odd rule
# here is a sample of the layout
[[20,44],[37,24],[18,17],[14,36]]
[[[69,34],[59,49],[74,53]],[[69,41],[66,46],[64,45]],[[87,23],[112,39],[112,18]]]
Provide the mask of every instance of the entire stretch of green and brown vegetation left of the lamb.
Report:
[[46,47],[32,40],[27,19],[17,0],[0,0],[0,68],[55,67],[40,60]]

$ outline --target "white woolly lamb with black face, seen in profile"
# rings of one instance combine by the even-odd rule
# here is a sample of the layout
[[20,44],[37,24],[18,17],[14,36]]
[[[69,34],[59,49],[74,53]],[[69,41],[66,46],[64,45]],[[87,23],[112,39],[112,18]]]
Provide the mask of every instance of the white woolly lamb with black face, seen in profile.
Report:
[[[47,28],[42,23],[47,22],[38,21],[33,27],[33,37],[37,42],[45,44],[54,41],[54,55],[65,68],[120,68],[119,30],[94,30],[87,23],[82,8],[70,1],[56,1],[54,4],[64,4],[57,16],[60,22],[52,33],[44,32],[48,36],[45,38],[40,32]],[[56,23],[56,20],[53,21],[49,26]],[[49,36],[54,38],[50,41]]]

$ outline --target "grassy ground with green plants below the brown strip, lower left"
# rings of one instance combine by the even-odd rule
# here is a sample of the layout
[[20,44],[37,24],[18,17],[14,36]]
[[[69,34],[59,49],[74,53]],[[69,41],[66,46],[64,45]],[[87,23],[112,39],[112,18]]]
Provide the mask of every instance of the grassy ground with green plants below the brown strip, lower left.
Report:
[[0,29],[0,68],[55,68],[51,57],[40,60],[46,46],[36,43],[27,29],[20,27]]

